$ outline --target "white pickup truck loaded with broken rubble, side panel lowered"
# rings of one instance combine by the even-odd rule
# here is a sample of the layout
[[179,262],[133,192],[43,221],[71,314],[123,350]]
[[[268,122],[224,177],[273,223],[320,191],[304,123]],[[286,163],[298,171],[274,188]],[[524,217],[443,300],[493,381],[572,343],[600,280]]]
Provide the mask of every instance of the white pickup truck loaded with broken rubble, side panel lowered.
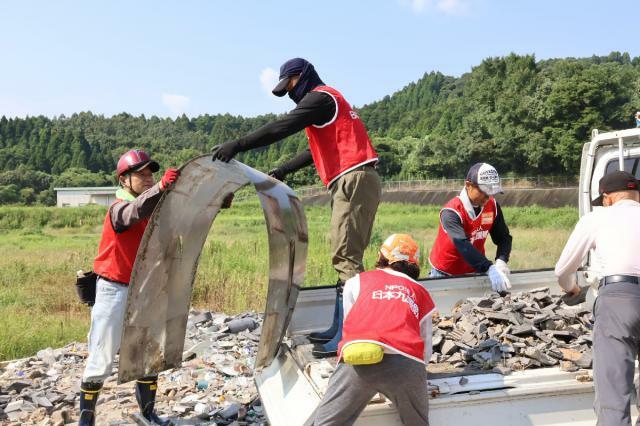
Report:
[[[584,145],[580,166],[579,214],[591,211],[590,200],[598,194],[598,181],[606,173],[620,169],[640,176],[640,129],[599,133]],[[596,283],[599,265],[589,256],[584,261],[580,280]],[[552,266],[552,265],[550,265]],[[423,281],[441,313],[448,313],[460,299],[483,296],[491,289],[485,276],[428,279]],[[513,292],[536,287],[560,288],[551,268],[514,271]],[[258,368],[255,374],[260,396],[273,426],[307,425],[313,420],[328,382],[326,360],[314,360],[305,345],[293,347],[296,336],[326,328],[335,298],[333,287],[301,288],[288,321],[280,336],[273,361]],[[270,303],[270,302],[268,302]],[[285,303],[285,301],[282,301]],[[269,310],[269,306],[267,307]],[[284,330],[283,330],[284,331]],[[286,334],[286,338],[283,339]],[[266,343],[266,342],[265,342]],[[274,342],[270,342],[272,345]],[[262,344],[262,342],[261,342]],[[432,425],[593,425],[595,415],[593,382],[578,381],[577,373],[558,367],[540,368],[500,374],[439,377],[430,374],[432,392],[429,419]],[[633,408],[634,418],[638,413]],[[361,414],[358,425],[400,425],[392,404],[378,398]]]

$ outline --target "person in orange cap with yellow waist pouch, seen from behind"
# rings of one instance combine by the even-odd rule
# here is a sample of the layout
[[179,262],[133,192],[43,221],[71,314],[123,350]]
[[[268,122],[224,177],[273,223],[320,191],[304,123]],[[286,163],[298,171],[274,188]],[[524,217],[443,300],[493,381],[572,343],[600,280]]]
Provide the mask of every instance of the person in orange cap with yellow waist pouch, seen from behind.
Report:
[[353,424],[378,392],[405,425],[428,425],[431,358],[429,292],[415,281],[419,249],[406,234],[382,244],[376,267],[347,280],[338,365],[316,411],[314,426]]

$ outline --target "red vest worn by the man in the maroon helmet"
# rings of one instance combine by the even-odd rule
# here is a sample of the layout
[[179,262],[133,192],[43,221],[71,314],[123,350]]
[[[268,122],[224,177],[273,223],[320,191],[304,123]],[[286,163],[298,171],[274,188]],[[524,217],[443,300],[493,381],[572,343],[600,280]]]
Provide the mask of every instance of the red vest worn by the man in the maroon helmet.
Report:
[[[117,200],[115,203],[121,201]],[[115,203],[111,206],[113,207]],[[93,271],[108,280],[128,284],[149,219],[143,219],[131,225],[126,231],[116,233],[111,224],[110,212],[111,208],[104,218],[102,239],[98,247],[98,256],[93,261]]]

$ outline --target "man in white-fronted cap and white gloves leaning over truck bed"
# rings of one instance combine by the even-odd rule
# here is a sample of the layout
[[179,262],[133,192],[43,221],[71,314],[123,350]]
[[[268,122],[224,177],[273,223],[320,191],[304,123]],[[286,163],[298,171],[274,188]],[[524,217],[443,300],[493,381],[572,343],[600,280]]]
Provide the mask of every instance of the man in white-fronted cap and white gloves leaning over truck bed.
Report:
[[[491,288],[504,293],[509,282],[511,234],[500,204],[493,198],[502,192],[497,170],[487,163],[474,164],[460,195],[445,204],[440,211],[438,236],[431,249],[432,278],[486,273]],[[487,237],[496,244],[496,262],[485,256]]]

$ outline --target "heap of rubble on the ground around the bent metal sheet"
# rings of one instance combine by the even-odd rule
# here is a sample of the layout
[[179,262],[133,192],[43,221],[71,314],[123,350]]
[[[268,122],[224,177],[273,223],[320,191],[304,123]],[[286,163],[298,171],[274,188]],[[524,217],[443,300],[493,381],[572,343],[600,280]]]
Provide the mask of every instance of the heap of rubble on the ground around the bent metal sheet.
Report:
[[[160,374],[156,410],[177,425],[267,425],[252,377],[262,317],[191,312],[182,368]],[[0,424],[78,421],[87,346],[71,343],[0,363]],[[98,400],[98,425],[134,425],[134,382],[117,385],[114,369]]]

